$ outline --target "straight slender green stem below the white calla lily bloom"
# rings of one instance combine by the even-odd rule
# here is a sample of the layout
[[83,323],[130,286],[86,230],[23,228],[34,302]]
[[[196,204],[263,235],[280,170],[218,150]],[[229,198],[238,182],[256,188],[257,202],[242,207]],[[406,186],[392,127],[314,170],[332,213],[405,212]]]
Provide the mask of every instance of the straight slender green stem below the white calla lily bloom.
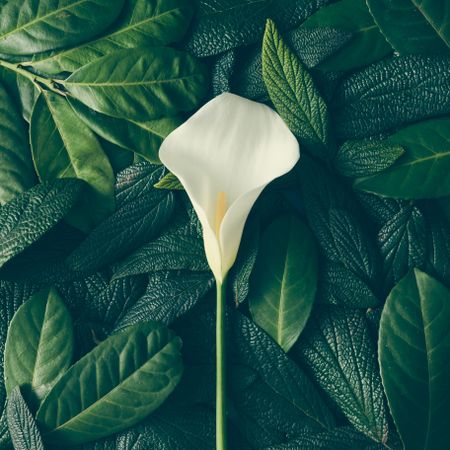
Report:
[[216,450],[227,448],[227,402],[226,402],[226,279],[217,286],[216,318]]

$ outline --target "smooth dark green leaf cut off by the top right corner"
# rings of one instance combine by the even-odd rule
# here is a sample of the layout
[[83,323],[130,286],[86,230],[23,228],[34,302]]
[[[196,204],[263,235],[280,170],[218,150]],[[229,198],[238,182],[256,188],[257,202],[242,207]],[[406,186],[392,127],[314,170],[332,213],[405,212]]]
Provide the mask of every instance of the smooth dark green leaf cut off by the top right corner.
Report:
[[450,49],[450,4],[433,0],[366,0],[375,22],[400,54]]

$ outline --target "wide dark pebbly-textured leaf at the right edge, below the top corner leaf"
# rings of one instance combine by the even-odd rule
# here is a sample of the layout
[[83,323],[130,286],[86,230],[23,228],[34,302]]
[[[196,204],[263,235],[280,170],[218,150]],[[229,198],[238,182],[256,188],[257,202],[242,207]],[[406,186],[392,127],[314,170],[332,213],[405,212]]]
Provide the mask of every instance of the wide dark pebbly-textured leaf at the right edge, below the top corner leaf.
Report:
[[336,131],[343,139],[364,138],[449,114],[450,56],[380,61],[347,78],[334,104]]

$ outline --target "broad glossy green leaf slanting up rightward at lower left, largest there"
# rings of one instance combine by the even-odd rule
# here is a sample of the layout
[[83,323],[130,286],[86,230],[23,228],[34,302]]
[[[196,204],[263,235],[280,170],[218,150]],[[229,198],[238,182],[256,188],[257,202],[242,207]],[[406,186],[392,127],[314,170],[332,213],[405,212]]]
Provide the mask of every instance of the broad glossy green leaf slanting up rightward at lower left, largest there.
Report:
[[180,348],[180,338],[155,322],[106,339],[59,379],[39,408],[46,440],[82,444],[142,420],[178,384]]

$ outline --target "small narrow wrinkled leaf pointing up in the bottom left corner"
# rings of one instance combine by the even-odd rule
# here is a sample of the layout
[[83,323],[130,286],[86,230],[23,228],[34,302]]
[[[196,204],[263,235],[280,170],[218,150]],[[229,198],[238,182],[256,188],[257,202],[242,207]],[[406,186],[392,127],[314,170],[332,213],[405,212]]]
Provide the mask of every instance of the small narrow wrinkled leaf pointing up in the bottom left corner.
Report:
[[41,434],[17,386],[8,396],[8,428],[15,450],[44,450]]

